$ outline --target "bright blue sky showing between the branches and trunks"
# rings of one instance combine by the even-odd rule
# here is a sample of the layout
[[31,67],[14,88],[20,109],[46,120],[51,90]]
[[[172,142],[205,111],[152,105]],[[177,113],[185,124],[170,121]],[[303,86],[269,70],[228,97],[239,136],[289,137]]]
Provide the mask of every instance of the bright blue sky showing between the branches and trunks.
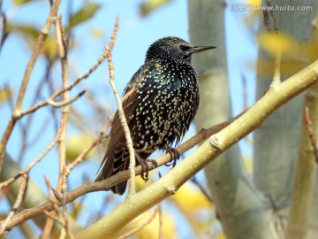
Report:
[[[42,27],[46,14],[49,11],[49,1],[37,1],[35,4],[26,4],[19,10],[12,7],[11,1],[4,1],[4,11],[9,14],[8,20],[13,22],[35,23],[38,27]],[[63,1],[61,10],[65,9]],[[73,1],[73,9],[79,8],[82,1]],[[117,34],[117,41],[115,49],[113,50],[113,61],[116,74],[116,85],[119,92],[122,92],[127,81],[130,80],[133,73],[143,64],[146,50],[149,44],[156,39],[168,35],[176,35],[185,40],[189,40],[188,35],[188,18],[187,18],[187,4],[185,0],[174,0],[170,4],[166,4],[155,12],[150,13],[146,18],[139,16],[139,4],[142,1],[95,1],[102,4],[102,9],[97,12],[93,20],[87,21],[77,27],[73,32],[76,48],[70,53],[70,81],[75,79],[79,74],[84,73],[92,66],[96,59],[101,55],[104,44],[109,43],[110,34],[112,32],[114,21],[119,16],[119,31]],[[236,3],[229,1],[228,5]],[[229,78],[231,88],[231,98],[234,114],[238,114],[242,110],[242,83],[241,74],[245,73],[247,81],[249,105],[254,101],[254,73],[253,69],[249,68],[250,64],[256,58],[255,39],[250,30],[246,29],[242,12],[231,12],[231,7],[228,7],[225,15],[226,23],[226,39],[227,39],[227,54],[229,65]],[[65,13],[64,13],[65,14]],[[102,39],[96,39],[90,34],[90,29],[94,27],[104,31],[105,35]],[[78,40],[78,41],[77,41]],[[206,42],[207,45],[215,45],[214,42]],[[11,35],[7,42],[5,42],[4,49],[0,55],[0,86],[4,82],[9,83],[15,92],[19,89],[27,60],[30,52],[27,46],[24,45],[19,37]],[[223,56],[220,56],[222,58]],[[30,106],[30,98],[34,94],[34,88],[37,82],[41,79],[45,65],[42,58],[37,61],[34,67],[34,73],[30,80],[27,96],[23,104],[24,108]],[[54,67],[57,72],[56,79],[52,79],[53,83],[60,81],[59,65]],[[79,92],[79,89],[88,87],[96,96],[101,96],[101,100],[105,100],[106,104],[111,104],[113,109],[116,109],[114,97],[111,95],[108,81],[108,66],[102,66],[81,85],[72,90],[72,95]],[[43,96],[48,96],[47,92],[43,92]],[[80,101],[76,103],[80,104]],[[37,112],[39,115],[45,113],[45,110]],[[0,106],[0,135],[4,132],[4,126],[10,118],[11,112],[7,105]],[[41,119],[41,117],[40,117]],[[37,123],[32,127],[36,127]],[[96,126],[97,133],[101,126]],[[72,129],[71,129],[72,132]],[[26,160],[24,164],[31,162],[36,158],[46,145],[52,140],[54,132],[45,132],[47,136],[43,137],[42,143],[35,145],[33,150],[27,151]],[[194,134],[194,132],[190,133]],[[17,158],[19,154],[19,127],[14,130],[7,151],[12,158]],[[251,149],[246,143],[240,144],[247,156],[251,156]],[[54,168],[57,162],[54,158],[57,157],[56,152],[50,152],[44,162],[40,163],[34,168],[31,176],[35,181],[38,181],[42,189],[45,189],[43,182],[43,174],[49,176],[51,181],[57,181],[57,173],[51,167],[48,170],[47,162],[51,162],[50,166]],[[92,171],[95,175],[99,162],[89,164],[81,168],[81,171]],[[80,170],[80,166],[79,166]],[[39,173],[41,172],[41,173]],[[94,177],[91,179],[93,180]],[[71,175],[72,180],[72,175]],[[74,185],[75,187],[75,185]],[[103,193],[103,192],[102,192]],[[96,194],[97,195],[97,194]],[[95,197],[98,197],[96,196]],[[99,205],[91,205],[97,209]],[[0,205],[0,208],[2,206]]]

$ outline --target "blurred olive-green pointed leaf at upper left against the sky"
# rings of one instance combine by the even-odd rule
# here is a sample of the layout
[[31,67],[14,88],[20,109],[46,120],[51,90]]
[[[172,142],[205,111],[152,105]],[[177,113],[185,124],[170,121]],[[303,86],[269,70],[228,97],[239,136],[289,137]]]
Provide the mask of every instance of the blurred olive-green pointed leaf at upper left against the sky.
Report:
[[94,17],[97,10],[101,8],[101,4],[95,3],[86,3],[83,7],[78,11],[75,12],[71,19],[69,26],[66,29],[69,31],[72,27],[79,25],[80,23],[86,21],[87,19],[91,19]]

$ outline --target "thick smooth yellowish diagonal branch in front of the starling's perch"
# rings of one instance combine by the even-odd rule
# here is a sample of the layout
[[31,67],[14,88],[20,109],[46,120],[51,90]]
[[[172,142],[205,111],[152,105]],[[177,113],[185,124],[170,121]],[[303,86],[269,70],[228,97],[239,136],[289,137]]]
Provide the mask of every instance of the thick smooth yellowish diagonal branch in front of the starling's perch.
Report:
[[123,204],[118,205],[114,211],[91,227],[87,227],[77,237],[97,239],[104,238],[106,235],[116,235],[119,228],[133,220],[140,213],[147,211],[150,207],[174,194],[182,184],[224,150],[253,132],[256,127],[260,127],[261,123],[269,118],[269,115],[275,112],[282,104],[299,95],[317,81],[318,61],[315,61],[306,69],[276,85],[276,88],[269,89],[269,92],[239,117],[238,120],[223,128],[216,135],[211,136],[209,141],[203,143],[160,180],[129,197]]

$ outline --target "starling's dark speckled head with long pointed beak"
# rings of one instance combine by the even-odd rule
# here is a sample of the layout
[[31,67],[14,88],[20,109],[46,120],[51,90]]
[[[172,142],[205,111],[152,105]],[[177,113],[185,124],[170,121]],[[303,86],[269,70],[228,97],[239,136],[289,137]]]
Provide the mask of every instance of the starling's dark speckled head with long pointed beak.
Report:
[[179,37],[163,37],[149,46],[146,61],[151,59],[163,59],[191,64],[191,56],[193,53],[214,48],[216,47],[193,46]]

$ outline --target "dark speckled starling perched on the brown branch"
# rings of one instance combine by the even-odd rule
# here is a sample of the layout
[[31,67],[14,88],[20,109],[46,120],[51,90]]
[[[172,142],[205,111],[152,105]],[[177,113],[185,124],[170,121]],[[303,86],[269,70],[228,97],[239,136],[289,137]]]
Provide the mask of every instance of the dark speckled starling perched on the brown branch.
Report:
[[[123,110],[133,139],[136,164],[143,171],[148,170],[145,162],[157,149],[168,150],[175,160],[178,158],[178,150],[170,145],[181,141],[199,107],[198,75],[191,66],[191,56],[213,48],[193,46],[178,37],[159,39],[150,45],[144,65],[126,85]],[[107,179],[128,166],[129,151],[116,112],[102,171],[95,181]],[[111,191],[122,195],[126,184],[127,181],[122,181]]]

